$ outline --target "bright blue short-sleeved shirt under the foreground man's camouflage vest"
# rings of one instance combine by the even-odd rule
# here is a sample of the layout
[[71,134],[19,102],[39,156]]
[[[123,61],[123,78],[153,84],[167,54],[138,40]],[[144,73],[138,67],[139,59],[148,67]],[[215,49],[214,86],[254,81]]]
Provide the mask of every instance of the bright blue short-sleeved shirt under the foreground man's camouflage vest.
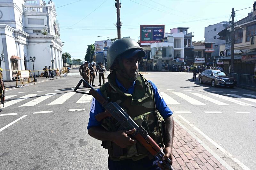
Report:
[[[148,81],[148,82],[151,83],[151,86],[153,89],[155,102],[156,102],[156,109],[158,110],[158,112],[164,119],[167,117],[170,117],[172,115],[172,111],[166,105],[166,103],[165,103],[163,97],[160,95],[156,85],[154,83],[152,83],[151,81]],[[120,88],[120,90],[122,92],[133,94],[134,88],[135,88],[135,81],[133,82],[133,85],[131,87],[129,87],[128,89],[126,89],[117,79],[116,79],[116,84],[118,85],[118,87]],[[100,89],[98,89],[97,92],[99,92],[100,95],[103,96],[102,93],[100,92]],[[92,126],[100,126],[100,122],[98,122],[94,116],[101,112],[104,112],[104,111],[105,111],[104,107],[102,107],[101,104],[93,98],[87,129],[90,129]]]

